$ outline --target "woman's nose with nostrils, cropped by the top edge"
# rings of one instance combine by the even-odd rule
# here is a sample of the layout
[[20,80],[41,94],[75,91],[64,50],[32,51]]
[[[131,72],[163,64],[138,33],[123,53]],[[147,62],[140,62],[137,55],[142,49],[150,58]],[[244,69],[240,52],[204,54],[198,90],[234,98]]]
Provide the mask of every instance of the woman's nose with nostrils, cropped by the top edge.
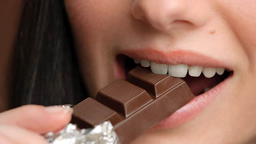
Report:
[[206,0],[134,0],[132,15],[168,32],[174,28],[203,26],[210,17],[210,9]]

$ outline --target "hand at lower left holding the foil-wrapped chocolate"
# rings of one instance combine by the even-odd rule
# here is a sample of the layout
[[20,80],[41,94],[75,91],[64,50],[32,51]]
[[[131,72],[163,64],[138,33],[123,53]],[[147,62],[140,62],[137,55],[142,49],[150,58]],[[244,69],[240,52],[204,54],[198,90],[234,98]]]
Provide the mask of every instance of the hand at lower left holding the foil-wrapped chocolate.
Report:
[[47,144],[41,134],[68,124],[72,109],[26,105],[0,113],[0,144]]

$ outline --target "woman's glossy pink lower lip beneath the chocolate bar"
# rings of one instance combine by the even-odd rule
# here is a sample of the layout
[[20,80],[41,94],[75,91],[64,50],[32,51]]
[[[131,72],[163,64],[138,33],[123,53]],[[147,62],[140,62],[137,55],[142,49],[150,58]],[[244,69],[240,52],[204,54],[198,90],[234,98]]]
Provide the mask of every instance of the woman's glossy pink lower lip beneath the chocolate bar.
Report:
[[188,102],[188,104],[179,110],[176,110],[176,112],[172,113],[168,118],[162,120],[153,128],[174,128],[192,120],[222,92],[231,77],[232,74],[214,88],[208,90],[204,94],[196,96]]

